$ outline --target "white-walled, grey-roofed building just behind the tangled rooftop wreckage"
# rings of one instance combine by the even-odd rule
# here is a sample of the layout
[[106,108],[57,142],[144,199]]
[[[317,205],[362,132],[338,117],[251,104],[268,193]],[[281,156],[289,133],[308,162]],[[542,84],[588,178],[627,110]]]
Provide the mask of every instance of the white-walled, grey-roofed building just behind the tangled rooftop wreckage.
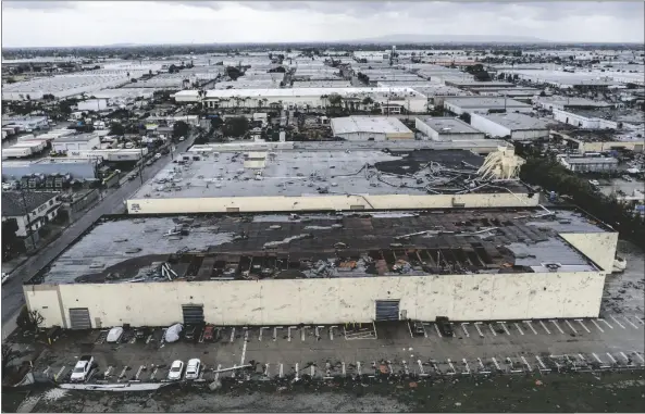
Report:
[[548,123],[520,113],[471,114],[470,125],[491,137],[510,137],[513,141],[548,138]]

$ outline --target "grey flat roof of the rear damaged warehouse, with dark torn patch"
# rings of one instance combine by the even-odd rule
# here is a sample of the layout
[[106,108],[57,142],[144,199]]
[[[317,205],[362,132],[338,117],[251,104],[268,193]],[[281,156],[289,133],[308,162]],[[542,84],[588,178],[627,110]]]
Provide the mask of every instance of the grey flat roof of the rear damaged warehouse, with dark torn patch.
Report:
[[[469,191],[464,179],[476,176],[483,161],[463,150],[350,151],[342,146],[319,151],[213,152],[184,166],[171,164],[132,199],[427,195],[429,188],[432,193],[444,189],[455,193]],[[443,168],[463,174],[459,178]],[[526,191],[517,184],[510,188]],[[482,191],[508,192],[487,187]]]

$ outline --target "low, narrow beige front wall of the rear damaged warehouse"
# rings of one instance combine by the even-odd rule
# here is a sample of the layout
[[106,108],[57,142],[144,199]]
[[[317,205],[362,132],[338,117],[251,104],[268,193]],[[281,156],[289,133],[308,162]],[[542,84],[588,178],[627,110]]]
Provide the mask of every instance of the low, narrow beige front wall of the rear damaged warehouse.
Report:
[[[129,214],[213,213],[213,212],[298,212],[314,210],[412,210],[451,209],[463,203],[467,209],[536,206],[537,197],[525,193],[437,195],[437,196],[321,196],[321,197],[221,197],[127,200]],[[238,209],[238,210],[236,210]]]

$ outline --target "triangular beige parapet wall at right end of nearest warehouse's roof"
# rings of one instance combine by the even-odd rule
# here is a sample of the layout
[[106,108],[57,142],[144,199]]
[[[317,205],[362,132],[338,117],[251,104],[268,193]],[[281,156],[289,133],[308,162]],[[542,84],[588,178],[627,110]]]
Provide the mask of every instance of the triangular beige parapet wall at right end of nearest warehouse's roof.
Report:
[[605,273],[611,273],[618,233],[560,233],[560,236],[594,261]]

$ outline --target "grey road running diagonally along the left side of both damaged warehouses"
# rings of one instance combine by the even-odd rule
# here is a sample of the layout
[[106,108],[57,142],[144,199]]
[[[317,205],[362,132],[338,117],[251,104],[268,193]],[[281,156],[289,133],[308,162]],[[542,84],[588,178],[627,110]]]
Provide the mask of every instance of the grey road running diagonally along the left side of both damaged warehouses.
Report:
[[[175,153],[188,149],[195,136],[189,136],[184,142],[176,145]],[[144,181],[152,178],[159,171],[171,162],[171,155],[164,155],[158,162],[142,170]],[[124,201],[127,200],[141,186],[141,180],[126,180],[115,191],[110,192],[98,204],[91,208],[76,222],[72,223],[61,236],[42,248],[36,255],[12,272],[11,278],[2,286],[2,338],[15,329],[15,317],[25,303],[23,296],[23,283],[30,279],[40,269],[47,266],[54,258],[67,248],[78,236],[89,228],[100,216],[104,214],[122,213],[125,211]]]

